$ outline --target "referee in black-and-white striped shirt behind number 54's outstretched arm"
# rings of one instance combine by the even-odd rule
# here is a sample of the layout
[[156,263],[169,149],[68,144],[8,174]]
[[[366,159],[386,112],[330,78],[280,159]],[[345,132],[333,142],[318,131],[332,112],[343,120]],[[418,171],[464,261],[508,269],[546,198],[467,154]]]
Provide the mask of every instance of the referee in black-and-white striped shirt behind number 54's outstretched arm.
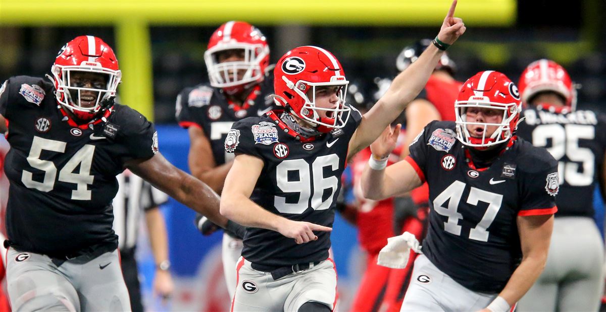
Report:
[[119,188],[113,200],[113,230],[118,235],[118,248],[122,259],[122,274],[130,296],[133,312],[143,312],[139,271],[135,259],[136,242],[141,216],[145,213],[147,233],[156,262],[153,292],[165,302],[173,292],[173,281],[168,262],[168,239],[164,216],[158,206],[166,203],[168,196],[142,178],[125,170],[117,177]]

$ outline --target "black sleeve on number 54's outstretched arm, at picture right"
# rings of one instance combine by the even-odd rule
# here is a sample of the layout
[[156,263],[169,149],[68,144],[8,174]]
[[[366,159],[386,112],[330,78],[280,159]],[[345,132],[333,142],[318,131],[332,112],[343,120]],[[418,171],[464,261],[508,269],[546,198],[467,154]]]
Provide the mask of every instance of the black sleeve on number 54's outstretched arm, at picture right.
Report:
[[149,159],[158,152],[158,132],[143,115],[135,109],[123,106],[119,119],[121,132],[120,143],[128,151],[128,158]]

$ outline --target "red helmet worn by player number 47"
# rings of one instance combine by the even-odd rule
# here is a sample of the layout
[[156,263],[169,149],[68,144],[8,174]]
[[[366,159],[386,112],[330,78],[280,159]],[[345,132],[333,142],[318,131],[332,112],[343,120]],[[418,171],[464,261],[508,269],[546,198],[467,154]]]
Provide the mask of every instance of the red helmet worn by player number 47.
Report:
[[[467,109],[471,107],[503,111],[501,123],[467,122]],[[462,144],[477,149],[509,141],[516,131],[521,111],[518,87],[498,71],[481,71],[463,83],[454,102],[457,138]],[[471,137],[467,125],[483,126],[482,137]],[[486,137],[488,126],[498,126],[490,137]]]

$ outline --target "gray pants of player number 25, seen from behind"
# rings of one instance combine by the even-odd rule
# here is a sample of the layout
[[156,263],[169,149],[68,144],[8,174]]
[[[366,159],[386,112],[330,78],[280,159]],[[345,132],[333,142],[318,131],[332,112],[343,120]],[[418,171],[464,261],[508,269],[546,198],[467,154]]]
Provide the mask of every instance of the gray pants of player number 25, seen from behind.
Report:
[[593,219],[558,217],[545,270],[518,311],[598,311],[604,289],[604,242]]

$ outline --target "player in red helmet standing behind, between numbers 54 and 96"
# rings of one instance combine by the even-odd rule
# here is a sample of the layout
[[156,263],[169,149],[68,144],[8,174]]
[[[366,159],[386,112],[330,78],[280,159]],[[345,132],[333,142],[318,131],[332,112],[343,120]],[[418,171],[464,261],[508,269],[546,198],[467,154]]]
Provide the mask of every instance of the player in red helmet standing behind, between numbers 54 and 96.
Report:
[[[186,88],[177,97],[176,117],[190,137],[188,163],[191,174],[221,194],[234,155],[224,143],[231,125],[245,117],[260,116],[273,108],[273,91],[267,39],[256,27],[238,21],[215,30],[204,60],[209,85]],[[201,215],[198,229],[205,235],[216,226]],[[222,261],[230,298],[236,290],[236,262],[242,253],[242,238],[225,232]]]

